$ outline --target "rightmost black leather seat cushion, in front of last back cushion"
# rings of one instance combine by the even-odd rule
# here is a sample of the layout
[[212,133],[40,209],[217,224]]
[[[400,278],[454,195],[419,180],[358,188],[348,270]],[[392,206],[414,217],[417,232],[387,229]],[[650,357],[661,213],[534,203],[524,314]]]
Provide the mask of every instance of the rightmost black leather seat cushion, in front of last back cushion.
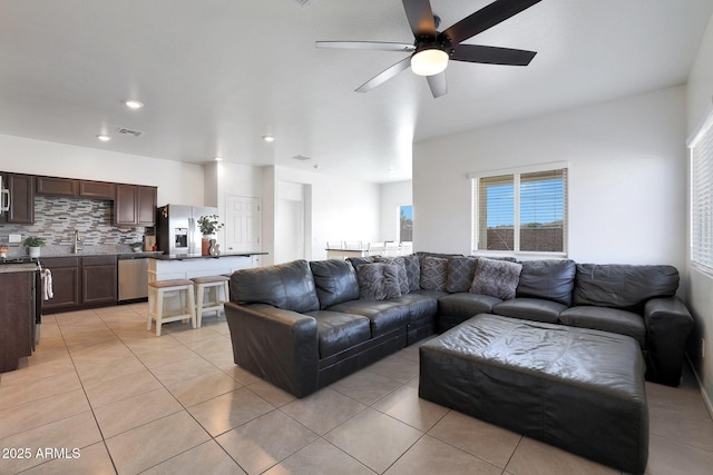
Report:
[[646,324],[644,317],[633,311],[605,307],[570,307],[559,314],[559,321],[570,327],[592,328],[627,335],[646,348]]

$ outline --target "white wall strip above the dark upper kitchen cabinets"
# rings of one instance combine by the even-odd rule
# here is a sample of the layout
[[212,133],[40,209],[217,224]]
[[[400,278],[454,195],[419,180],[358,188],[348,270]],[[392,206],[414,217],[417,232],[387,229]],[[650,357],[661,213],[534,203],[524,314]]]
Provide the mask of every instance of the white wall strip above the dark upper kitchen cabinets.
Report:
[[158,187],[158,205],[203,205],[203,166],[0,135],[0,170]]

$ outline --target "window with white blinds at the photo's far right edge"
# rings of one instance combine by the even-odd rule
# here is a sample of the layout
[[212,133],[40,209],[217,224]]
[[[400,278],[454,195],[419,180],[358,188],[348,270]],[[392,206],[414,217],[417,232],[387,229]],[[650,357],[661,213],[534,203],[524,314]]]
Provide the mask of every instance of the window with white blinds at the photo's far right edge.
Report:
[[691,261],[713,274],[713,109],[688,140],[691,155]]

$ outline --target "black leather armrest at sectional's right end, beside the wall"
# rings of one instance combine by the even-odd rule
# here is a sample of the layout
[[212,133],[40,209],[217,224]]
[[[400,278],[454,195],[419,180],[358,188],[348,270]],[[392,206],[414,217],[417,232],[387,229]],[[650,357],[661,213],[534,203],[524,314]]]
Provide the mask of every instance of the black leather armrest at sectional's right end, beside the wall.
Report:
[[647,378],[678,386],[693,317],[678,297],[652,298],[644,307]]

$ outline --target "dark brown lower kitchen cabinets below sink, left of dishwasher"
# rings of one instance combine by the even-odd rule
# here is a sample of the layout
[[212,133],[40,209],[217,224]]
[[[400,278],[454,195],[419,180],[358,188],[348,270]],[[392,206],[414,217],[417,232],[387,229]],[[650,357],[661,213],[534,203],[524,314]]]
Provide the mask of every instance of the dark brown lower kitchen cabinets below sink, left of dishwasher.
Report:
[[45,314],[116,305],[116,256],[47,257],[41,260],[52,273],[55,294],[45,300]]

